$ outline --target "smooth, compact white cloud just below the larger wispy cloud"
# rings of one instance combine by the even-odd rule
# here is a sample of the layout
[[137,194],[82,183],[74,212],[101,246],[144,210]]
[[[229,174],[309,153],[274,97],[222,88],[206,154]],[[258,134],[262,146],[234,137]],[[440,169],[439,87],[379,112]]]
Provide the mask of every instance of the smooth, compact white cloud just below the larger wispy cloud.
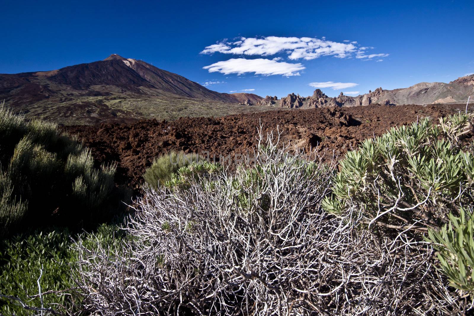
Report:
[[301,63],[277,62],[263,58],[232,58],[202,68],[207,69],[209,72],[220,72],[223,74],[237,73],[240,75],[247,72],[254,72],[255,74],[264,76],[283,75],[287,77],[299,76],[299,71],[306,69]]

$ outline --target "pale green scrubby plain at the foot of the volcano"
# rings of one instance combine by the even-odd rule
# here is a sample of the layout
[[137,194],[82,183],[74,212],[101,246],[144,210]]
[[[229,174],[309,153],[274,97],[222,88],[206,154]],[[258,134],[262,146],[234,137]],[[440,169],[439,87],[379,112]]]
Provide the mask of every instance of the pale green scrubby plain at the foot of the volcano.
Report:
[[43,117],[62,125],[93,125],[101,122],[158,121],[180,117],[221,117],[275,108],[242,106],[222,101],[176,97],[143,96],[110,92],[110,96],[64,96],[40,100],[33,105],[15,106],[26,117]]

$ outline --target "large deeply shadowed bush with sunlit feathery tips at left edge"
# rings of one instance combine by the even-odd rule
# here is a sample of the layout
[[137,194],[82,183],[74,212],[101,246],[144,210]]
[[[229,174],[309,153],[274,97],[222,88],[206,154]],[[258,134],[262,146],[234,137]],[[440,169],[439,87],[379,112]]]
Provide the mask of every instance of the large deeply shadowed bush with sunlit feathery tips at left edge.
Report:
[[27,122],[0,105],[0,237],[20,225],[72,227],[110,218],[128,193],[116,189],[115,169],[96,168],[91,151],[55,123]]

